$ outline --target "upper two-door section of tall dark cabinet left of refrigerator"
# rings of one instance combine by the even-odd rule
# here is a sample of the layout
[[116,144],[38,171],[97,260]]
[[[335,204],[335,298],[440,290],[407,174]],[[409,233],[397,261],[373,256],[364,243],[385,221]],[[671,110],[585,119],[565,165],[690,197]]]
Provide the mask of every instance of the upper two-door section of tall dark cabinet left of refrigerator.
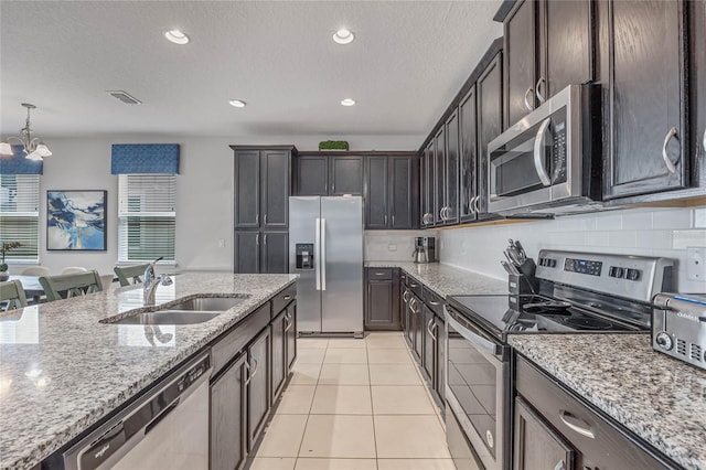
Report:
[[286,229],[295,147],[232,146],[235,152],[235,228]]

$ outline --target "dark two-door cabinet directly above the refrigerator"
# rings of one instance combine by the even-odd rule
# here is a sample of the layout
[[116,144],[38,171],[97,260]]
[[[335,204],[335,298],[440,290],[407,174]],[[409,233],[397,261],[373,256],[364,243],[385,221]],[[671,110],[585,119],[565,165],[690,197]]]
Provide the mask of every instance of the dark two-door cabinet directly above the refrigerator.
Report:
[[363,195],[363,157],[300,156],[295,184],[297,195]]

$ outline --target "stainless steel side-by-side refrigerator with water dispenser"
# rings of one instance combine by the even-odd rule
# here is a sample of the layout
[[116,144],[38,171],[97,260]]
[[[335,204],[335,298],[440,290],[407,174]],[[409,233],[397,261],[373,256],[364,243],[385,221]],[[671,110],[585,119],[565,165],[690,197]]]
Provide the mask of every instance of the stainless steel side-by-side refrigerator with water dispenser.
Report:
[[363,200],[289,197],[297,331],[363,337]]

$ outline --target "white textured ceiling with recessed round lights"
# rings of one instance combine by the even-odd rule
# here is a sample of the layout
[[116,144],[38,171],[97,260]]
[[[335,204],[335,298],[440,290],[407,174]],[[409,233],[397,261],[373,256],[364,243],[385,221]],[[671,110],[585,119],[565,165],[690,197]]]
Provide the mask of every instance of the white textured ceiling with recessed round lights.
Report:
[[[3,0],[0,133],[29,102],[42,137],[424,137],[501,35],[500,3]],[[341,26],[352,44],[331,40]],[[173,28],[192,42],[167,42]]]

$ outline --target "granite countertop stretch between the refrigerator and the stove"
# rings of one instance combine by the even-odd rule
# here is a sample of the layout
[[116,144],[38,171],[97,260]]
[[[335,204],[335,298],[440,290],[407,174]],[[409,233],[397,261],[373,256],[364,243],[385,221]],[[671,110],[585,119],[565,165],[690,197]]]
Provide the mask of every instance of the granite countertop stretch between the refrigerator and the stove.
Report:
[[365,261],[366,268],[402,268],[441,297],[507,293],[507,280],[468,271],[440,263]]

